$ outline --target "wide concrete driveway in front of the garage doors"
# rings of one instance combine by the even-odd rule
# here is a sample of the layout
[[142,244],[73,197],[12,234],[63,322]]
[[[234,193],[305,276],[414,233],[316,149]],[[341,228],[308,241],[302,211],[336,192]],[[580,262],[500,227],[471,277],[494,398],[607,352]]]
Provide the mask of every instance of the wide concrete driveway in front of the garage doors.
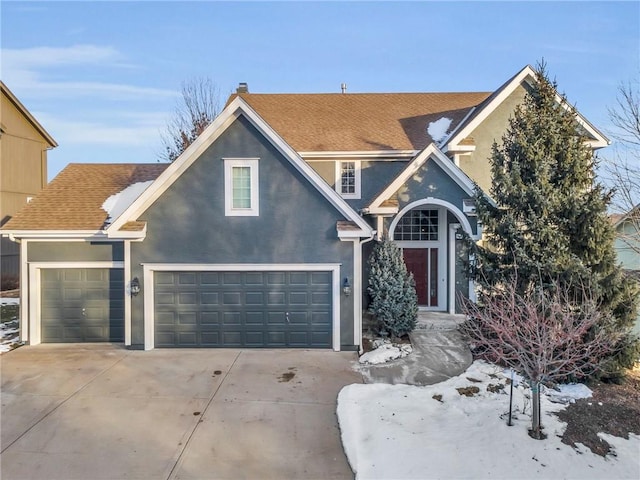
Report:
[[355,352],[38,345],[0,356],[9,479],[353,478]]

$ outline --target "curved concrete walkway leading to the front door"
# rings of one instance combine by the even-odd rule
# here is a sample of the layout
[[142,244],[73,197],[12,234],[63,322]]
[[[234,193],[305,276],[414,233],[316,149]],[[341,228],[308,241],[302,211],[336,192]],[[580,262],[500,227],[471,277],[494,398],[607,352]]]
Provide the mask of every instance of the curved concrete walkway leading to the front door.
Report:
[[361,365],[365,383],[433,385],[464,372],[473,358],[457,331],[462,315],[420,312],[409,335],[413,352],[381,365]]

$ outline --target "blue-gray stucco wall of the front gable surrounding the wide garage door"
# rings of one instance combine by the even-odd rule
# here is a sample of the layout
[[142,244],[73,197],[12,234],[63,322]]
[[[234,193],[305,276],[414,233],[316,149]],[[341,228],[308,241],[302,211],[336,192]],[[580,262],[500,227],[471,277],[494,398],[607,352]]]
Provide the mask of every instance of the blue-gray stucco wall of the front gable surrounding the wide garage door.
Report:
[[[224,158],[259,158],[260,215],[227,217]],[[341,264],[353,279],[353,243],[341,242],[345,218],[240,116],[144,212],[143,242],[131,244],[132,277],[143,263]],[[144,285],[142,286],[144,288]],[[132,344],[144,343],[143,295],[132,298]],[[352,346],[353,297],[340,299],[341,345]]]

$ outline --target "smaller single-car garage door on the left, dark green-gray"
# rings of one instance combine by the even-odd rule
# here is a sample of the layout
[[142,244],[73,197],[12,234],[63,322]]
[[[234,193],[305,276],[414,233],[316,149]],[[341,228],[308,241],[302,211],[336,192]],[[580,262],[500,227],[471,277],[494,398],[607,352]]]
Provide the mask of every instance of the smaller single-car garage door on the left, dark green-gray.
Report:
[[124,270],[41,270],[42,341],[124,341]]

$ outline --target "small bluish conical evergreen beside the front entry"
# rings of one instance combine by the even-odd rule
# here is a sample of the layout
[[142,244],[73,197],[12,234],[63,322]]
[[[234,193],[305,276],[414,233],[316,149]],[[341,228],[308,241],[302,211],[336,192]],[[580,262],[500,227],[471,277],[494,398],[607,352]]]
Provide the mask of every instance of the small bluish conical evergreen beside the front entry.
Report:
[[369,311],[381,331],[402,337],[416,326],[418,296],[413,274],[407,271],[402,253],[388,239],[377,242],[369,257]]

